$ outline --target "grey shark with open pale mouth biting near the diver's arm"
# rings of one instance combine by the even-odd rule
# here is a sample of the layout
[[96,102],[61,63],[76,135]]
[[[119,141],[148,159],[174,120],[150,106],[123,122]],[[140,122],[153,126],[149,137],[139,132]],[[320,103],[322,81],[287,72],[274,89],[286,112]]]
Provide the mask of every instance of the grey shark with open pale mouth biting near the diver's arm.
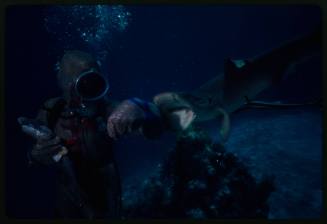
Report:
[[163,92],[153,97],[163,116],[175,131],[195,122],[220,119],[220,136],[226,142],[230,114],[244,106],[299,106],[253,102],[250,99],[281,82],[290,66],[321,50],[321,29],[285,42],[260,55],[244,60],[225,59],[223,73],[190,92]]

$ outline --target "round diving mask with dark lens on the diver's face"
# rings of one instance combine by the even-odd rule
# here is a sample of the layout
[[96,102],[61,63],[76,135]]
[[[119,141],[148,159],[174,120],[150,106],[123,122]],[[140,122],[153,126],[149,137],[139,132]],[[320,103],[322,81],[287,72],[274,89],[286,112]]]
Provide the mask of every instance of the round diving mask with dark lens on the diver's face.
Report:
[[105,77],[94,69],[83,72],[75,81],[75,92],[84,101],[94,101],[102,98],[109,90]]

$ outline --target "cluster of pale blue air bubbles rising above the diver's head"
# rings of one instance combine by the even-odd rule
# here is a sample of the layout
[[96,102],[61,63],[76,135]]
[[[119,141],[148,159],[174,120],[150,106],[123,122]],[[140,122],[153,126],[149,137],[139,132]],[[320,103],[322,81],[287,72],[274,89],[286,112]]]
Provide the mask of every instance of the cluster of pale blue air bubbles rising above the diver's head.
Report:
[[[49,6],[44,17],[48,33],[63,50],[86,48],[106,57],[112,38],[124,32],[131,13],[122,5]],[[101,60],[104,60],[101,59]]]

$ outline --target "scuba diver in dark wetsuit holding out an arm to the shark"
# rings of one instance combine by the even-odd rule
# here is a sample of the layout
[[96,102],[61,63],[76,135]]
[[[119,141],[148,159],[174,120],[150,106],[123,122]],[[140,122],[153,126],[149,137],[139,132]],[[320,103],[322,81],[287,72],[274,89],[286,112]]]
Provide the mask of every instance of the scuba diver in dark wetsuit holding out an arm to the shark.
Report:
[[109,100],[108,81],[85,52],[66,52],[57,79],[62,96],[46,100],[36,119],[18,119],[36,139],[30,160],[58,170],[56,216],[120,218],[114,140],[131,132],[159,137],[167,128],[160,110],[138,98]]

